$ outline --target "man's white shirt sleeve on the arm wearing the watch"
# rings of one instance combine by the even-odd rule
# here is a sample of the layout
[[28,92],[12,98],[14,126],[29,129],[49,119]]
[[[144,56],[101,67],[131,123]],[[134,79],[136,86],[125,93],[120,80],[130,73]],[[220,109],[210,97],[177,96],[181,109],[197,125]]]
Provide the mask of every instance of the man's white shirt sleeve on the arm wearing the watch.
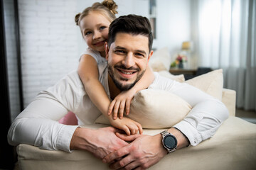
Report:
[[217,98],[189,84],[166,79],[158,74],[155,76],[152,88],[170,91],[192,106],[186,118],[174,125],[188,137],[191,145],[196,146],[203,140],[213,137],[223,121],[228,118],[228,109]]

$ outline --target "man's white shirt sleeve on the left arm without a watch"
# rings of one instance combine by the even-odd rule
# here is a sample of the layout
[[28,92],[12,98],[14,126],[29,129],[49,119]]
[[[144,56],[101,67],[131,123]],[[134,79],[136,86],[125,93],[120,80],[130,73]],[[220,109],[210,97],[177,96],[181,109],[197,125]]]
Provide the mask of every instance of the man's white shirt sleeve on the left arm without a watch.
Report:
[[9,144],[23,143],[41,149],[70,152],[70,141],[78,126],[63,125],[58,120],[68,111],[75,111],[80,102],[80,93],[72,86],[75,86],[75,79],[66,77],[48,90],[41,91],[12,123],[8,133]]

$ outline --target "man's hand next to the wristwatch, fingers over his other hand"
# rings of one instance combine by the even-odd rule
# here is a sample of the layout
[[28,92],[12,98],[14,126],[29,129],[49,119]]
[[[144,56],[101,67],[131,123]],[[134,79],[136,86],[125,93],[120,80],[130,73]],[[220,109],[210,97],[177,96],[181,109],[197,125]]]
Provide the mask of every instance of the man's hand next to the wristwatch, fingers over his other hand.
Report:
[[[116,133],[122,140],[132,141],[129,145],[118,149],[103,159],[112,163],[112,169],[147,169],[160,161],[167,154],[161,144],[161,135],[133,135],[127,136]],[[118,161],[115,161],[118,160]]]

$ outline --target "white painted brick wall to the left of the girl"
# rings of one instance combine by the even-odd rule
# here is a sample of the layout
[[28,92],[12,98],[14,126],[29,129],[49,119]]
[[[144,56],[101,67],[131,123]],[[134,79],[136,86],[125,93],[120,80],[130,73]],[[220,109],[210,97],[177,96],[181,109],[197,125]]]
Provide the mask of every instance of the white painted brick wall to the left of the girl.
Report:
[[77,1],[19,0],[25,107],[39,91],[77,69]]

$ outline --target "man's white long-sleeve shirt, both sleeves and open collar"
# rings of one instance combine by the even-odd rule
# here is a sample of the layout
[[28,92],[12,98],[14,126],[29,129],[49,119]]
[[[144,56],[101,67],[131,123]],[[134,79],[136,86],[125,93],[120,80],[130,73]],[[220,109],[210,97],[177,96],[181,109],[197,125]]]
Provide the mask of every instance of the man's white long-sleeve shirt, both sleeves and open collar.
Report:
[[[99,80],[110,97],[107,83],[107,64],[98,65]],[[218,99],[203,93],[188,84],[181,84],[154,73],[154,82],[149,89],[162,89],[180,96],[192,109],[174,127],[181,130],[191,145],[212,137],[218,127],[228,118],[228,109]],[[78,126],[58,123],[68,111],[73,111],[85,125],[94,123],[101,115],[90,101],[78,72],[71,72],[55,86],[41,91],[28,107],[14,120],[9,129],[10,145],[21,143],[41,149],[60,149],[70,152],[70,141]]]

